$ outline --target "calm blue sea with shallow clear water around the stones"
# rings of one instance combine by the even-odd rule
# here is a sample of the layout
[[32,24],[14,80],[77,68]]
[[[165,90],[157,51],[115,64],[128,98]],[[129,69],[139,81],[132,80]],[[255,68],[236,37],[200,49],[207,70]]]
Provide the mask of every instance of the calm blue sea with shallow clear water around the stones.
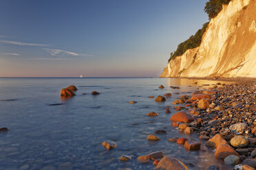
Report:
[[[200,151],[186,151],[182,145],[168,141],[176,136],[199,140],[196,134],[185,135],[171,127],[169,119],[175,110],[171,108],[171,114],[165,114],[165,106],[173,106],[180,95],[193,93],[202,84],[217,82],[159,78],[0,78],[0,127],[10,130],[0,133],[0,169],[47,166],[52,169],[153,169],[153,165],[142,165],[136,160],[153,151],[164,151],[189,169],[207,169],[211,165],[231,169],[214,158],[214,149],[203,144]],[[76,96],[61,99],[61,88],[71,84],[78,88]],[[160,84],[166,88],[159,89]],[[169,86],[180,86],[180,89]],[[100,95],[90,95],[93,90]],[[148,98],[165,93],[173,96],[162,104]],[[152,111],[159,116],[145,115]],[[149,134],[162,128],[167,134],[157,135],[160,141],[147,141]],[[115,141],[117,147],[107,151],[101,145],[107,140]],[[132,160],[120,162],[118,158],[122,154],[131,156]]]

